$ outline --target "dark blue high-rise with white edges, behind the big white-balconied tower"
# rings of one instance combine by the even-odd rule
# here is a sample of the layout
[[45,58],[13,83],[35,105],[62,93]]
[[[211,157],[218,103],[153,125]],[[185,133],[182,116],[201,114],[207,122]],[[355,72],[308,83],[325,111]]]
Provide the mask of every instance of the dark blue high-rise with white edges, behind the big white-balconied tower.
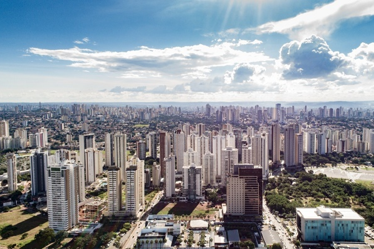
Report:
[[46,193],[45,172],[48,166],[48,152],[42,152],[40,148],[30,156],[31,195],[38,196]]

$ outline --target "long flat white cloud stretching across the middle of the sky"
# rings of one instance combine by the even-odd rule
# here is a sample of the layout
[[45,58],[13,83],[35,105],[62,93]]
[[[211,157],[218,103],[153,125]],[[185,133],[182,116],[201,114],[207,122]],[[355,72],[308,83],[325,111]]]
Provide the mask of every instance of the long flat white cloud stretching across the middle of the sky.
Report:
[[[134,77],[134,71],[154,71],[154,77],[162,75],[186,75],[206,77],[214,67],[236,65],[243,62],[273,60],[258,52],[244,52],[237,48],[238,42],[222,42],[212,46],[193,45],[152,49],[140,47],[127,52],[98,52],[90,49],[39,49],[30,48],[29,53],[72,62],[70,66],[92,68],[101,72],[123,72],[125,77]],[[254,41],[258,44],[259,41]]]

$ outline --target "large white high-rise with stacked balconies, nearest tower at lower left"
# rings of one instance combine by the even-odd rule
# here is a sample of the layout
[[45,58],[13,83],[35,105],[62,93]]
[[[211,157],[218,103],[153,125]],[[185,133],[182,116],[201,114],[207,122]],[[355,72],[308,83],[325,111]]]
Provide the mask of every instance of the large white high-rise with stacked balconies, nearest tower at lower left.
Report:
[[79,166],[62,161],[48,165],[46,172],[49,228],[68,230],[79,222]]

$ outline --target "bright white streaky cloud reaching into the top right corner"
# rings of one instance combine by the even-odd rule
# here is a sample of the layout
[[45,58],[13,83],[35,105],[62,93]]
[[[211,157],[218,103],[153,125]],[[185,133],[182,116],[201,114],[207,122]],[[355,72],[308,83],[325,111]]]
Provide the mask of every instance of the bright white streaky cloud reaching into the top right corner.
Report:
[[341,21],[374,15],[373,0],[335,0],[299,15],[276,22],[267,22],[247,31],[257,34],[281,33],[292,39],[303,39],[312,34],[326,37]]

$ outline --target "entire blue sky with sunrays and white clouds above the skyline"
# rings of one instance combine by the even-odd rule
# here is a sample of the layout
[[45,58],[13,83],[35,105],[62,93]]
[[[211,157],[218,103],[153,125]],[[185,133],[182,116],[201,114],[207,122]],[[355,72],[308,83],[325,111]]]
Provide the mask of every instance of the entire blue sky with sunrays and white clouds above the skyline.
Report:
[[0,13],[0,102],[373,100],[373,0],[3,0]]

